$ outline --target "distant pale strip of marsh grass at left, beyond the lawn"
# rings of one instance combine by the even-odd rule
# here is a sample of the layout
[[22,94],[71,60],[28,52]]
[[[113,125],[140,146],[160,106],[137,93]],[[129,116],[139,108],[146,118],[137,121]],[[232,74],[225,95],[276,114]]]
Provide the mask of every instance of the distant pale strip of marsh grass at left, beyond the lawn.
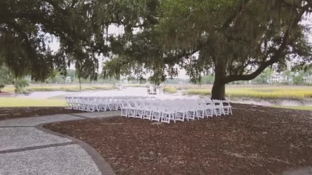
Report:
[[[6,86],[3,92],[14,92],[13,86]],[[95,91],[95,90],[113,90],[111,85],[82,85],[81,91]],[[79,85],[58,85],[58,86],[28,86],[26,88],[29,92],[35,91],[66,91],[66,92],[79,92]]]

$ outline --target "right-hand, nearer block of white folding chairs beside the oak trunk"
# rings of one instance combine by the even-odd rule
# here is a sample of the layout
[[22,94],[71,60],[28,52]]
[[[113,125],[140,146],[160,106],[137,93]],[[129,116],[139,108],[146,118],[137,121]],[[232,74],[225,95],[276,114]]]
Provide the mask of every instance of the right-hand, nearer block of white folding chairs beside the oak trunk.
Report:
[[170,123],[232,114],[226,100],[123,100],[121,116]]

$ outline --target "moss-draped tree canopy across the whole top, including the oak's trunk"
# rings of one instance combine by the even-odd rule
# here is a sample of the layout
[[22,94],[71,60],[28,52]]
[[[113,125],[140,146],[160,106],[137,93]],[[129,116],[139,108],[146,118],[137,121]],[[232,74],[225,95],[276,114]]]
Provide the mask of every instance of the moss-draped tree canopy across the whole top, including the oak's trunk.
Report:
[[[267,67],[312,60],[309,31],[302,21],[310,0],[58,0],[0,3],[0,54],[16,76],[45,79],[75,63],[79,77],[134,75],[160,83],[183,68],[191,81],[214,71],[212,98],[225,84],[251,80]],[[108,33],[110,25],[121,34]],[[47,41],[61,48],[51,52]]]

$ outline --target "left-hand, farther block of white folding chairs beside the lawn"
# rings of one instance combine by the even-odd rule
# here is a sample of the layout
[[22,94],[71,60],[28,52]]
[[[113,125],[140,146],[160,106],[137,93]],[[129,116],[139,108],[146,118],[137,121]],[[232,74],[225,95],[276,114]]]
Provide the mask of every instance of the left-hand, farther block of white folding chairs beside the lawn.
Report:
[[153,100],[154,97],[115,96],[115,97],[65,97],[66,109],[86,112],[118,111],[124,100]]

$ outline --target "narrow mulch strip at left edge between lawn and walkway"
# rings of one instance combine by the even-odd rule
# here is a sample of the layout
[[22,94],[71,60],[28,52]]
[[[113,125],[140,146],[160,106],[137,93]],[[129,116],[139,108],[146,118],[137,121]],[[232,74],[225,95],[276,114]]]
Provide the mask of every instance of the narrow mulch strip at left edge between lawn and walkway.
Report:
[[65,107],[0,107],[0,120],[74,113]]

